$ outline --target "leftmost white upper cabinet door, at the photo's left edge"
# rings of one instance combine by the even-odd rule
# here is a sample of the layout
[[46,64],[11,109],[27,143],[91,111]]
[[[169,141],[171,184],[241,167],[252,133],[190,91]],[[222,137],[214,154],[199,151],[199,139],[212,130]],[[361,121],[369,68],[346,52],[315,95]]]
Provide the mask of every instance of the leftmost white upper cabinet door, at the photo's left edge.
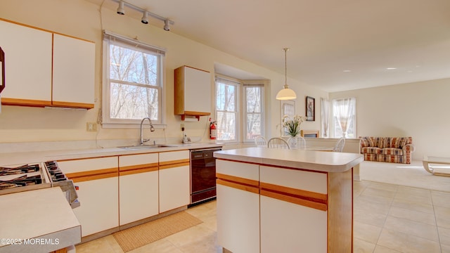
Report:
[[0,21],[0,31],[6,62],[2,101],[51,105],[51,33],[5,21]]

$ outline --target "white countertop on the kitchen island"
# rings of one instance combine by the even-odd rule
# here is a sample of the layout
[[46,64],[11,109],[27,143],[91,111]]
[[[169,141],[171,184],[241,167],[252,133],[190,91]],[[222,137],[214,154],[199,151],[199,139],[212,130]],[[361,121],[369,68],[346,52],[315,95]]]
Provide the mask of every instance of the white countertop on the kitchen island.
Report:
[[311,150],[285,150],[276,148],[241,148],[214,152],[214,157],[238,162],[254,162],[294,169],[323,172],[344,172],[363,162],[355,153],[323,152]]

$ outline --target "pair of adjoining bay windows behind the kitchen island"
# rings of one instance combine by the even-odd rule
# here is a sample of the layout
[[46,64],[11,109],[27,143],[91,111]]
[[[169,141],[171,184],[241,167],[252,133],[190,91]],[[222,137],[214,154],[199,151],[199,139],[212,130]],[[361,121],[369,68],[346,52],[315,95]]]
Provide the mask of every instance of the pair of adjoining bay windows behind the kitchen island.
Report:
[[[252,142],[256,136],[264,135],[263,98],[264,84],[261,82],[243,83],[235,79],[217,77],[217,139]],[[242,103],[238,102],[240,100]]]

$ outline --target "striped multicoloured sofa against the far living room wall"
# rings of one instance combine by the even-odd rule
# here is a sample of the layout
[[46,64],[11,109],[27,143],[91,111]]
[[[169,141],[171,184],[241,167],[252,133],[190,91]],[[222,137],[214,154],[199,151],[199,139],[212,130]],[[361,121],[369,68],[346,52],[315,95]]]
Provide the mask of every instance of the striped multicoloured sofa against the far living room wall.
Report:
[[412,137],[360,137],[360,153],[365,161],[411,164]]

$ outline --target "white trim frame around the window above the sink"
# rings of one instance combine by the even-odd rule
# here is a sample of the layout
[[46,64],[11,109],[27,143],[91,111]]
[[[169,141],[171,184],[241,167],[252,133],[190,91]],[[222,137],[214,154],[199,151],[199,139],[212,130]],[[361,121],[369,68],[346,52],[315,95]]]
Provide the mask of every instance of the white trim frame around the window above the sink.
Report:
[[[158,46],[152,46],[146,43],[143,43],[142,41],[138,41],[136,39],[130,39],[127,37],[124,37],[119,34],[115,34],[113,32],[109,32],[107,30],[103,31],[103,36],[110,37],[117,39],[117,41],[122,42],[123,44],[136,44],[141,46],[142,48],[146,48],[149,51],[153,51],[156,53],[161,54],[160,62],[158,63],[160,65],[160,86],[158,92],[158,100],[160,100],[160,105],[158,106],[159,112],[158,115],[161,115],[161,122],[153,122],[153,126],[156,129],[165,129],[166,124],[166,117],[165,117],[165,107],[166,107],[166,89],[165,89],[165,52],[167,51],[165,48],[161,48]],[[100,110],[99,117],[101,117],[101,124],[103,128],[120,128],[120,129],[127,129],[127,128],[139,128],[141,124],[141,119],[110,119],[108,115],[110,115],[110,96],[105,94],[105,92],[110,92],[110,65],[108,63],[108,52],[109,52],[109,41],[108,39],[103,38],[103,44],[102,44],[102,89],[101,89],[101,99],[102,99],[102,108]],[[108,48],[108,50],[105,50],[105,48]]]

